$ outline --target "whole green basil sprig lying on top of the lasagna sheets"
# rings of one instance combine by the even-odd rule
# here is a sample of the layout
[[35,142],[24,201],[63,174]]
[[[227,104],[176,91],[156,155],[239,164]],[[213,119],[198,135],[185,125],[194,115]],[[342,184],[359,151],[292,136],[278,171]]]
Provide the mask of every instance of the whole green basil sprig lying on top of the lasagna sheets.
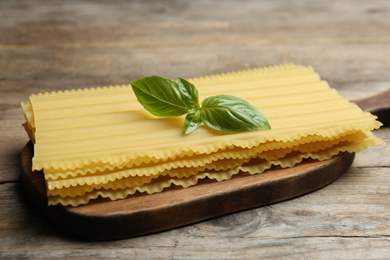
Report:
[[247,101],[230,96],[208,97],[199,105],[198,91],[183,78],[177,82],[151,76],[131,82],[138,101],[157,117],[176,117],[187,114],[183,135],[197,129],[203,122],[208,127],[223,131],[245,132],[271,129],[268,120]]

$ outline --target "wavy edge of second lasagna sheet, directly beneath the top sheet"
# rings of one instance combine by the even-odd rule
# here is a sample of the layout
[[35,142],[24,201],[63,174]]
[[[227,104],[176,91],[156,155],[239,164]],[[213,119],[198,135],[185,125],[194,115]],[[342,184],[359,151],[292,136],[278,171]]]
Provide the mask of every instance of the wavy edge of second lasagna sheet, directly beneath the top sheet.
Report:
[[[121,177],[157,175],[161,172],[172,169],[182,169],[182,171],[185,171],[185,168],[196,168],[210,164],[215,166],[215,163],[218,162],[218,160],[224,160],[225,167],[228,167],[228,160],[226,159],[240,159],[247,161],[250,158],[261,157],[268,161],[276,160],[293,150],[301,152],[318,151],[324,148],[329,148],[342,141],[362,140],[364,138],[366,138],[366,133],[361,132],[340,136],[336,139],[328,139],[322,136],[310,136],[310,138],[301,138],[299,142],[273,141],[251,149],[238,149],[234,147],[232,149],[207,155],[193,155],[182,157],[178,160],[153,162],[137,166],[131,164],[105,165],[100,163],[72,171],[61,171],[59,169],[50,168],[45,169],[44,172],[45,179],[47,181],[71,179],[79,176],[110,176],[111,180],[115,180]],[[121,174],[117,173],[119,170],[122,172]],[[116,173],[111,175],[113,172]],[[106,179],[107,177],[102,178]]]

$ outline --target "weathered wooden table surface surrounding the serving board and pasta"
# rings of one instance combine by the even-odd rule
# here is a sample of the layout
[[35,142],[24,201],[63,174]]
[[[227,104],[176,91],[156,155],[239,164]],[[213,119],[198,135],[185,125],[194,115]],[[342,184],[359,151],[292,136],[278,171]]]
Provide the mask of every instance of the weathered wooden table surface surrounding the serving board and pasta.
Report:
[[[29,94],[312,65],[349,99],[390,88],[390,2],[0,2],[0,258],[384,259],[390,257],[389,146],[359,153],[305,196],[167,232],[78,241],[48,225],[20,181]],[[390,144],[390,130],[376,135]]]

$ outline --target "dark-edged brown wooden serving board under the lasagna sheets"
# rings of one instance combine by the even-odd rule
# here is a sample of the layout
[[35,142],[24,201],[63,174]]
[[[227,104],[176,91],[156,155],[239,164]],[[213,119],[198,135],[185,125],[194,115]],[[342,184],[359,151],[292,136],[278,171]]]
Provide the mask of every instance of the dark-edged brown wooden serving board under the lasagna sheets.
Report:
[[[387,108],[389,94],[377,96]],[[370,100],[374,103],[356,103],[365,104],[366,110],[378,109],[378,99]],[[22,178],[28,197],[42,216],[76,237],[111,240],[168,230],[312,192],[345,173],[355,154],[344,153],[323,162],[306,160],[293,168],[275,167],[258,175],[238,174],[228,181],[202,180],[189,188],[171,187],[152,195],[138,193],[117,201],[96,199],[78,207],[48,206],[43,173],[31,172],[32,157],[29,142],[21,157]]]

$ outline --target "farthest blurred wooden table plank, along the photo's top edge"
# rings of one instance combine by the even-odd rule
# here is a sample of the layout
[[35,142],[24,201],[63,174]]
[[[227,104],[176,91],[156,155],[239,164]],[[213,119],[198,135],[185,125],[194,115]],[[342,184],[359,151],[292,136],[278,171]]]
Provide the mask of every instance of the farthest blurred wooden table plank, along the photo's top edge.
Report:
[[[66,10],[61,12],[61,7]],[[5,37],[1,42],[38,48],[242,44],[248,41],[297,43],[313,39],[322,43],[386,42],[388,27],[383,20],[387,18],[388,7],[387,1],[359,1],[348,5],[342,2],[307,4],[305,1],[264,4],[254,0],[225,4],[170,1],[169,5],[142,1],[116,5],[67,1],[60,6],[48,3],[44,7],[2,1],[1,34]],[[29,12],[24,12],[26,8]],[[53,10],[57,10],[55,15]],[[21,13],[23,15],[19,15]],[[332,19],[329,13],[333,13]],[[147,15],[147,19],[139,19],[142,15]],[[365,19],[361,19],[362,15]],[[18,28],[17,33],[11,28]],[[346,31],[348,34],[343,33]],[[261,37],[256,32],[261,33]]]

